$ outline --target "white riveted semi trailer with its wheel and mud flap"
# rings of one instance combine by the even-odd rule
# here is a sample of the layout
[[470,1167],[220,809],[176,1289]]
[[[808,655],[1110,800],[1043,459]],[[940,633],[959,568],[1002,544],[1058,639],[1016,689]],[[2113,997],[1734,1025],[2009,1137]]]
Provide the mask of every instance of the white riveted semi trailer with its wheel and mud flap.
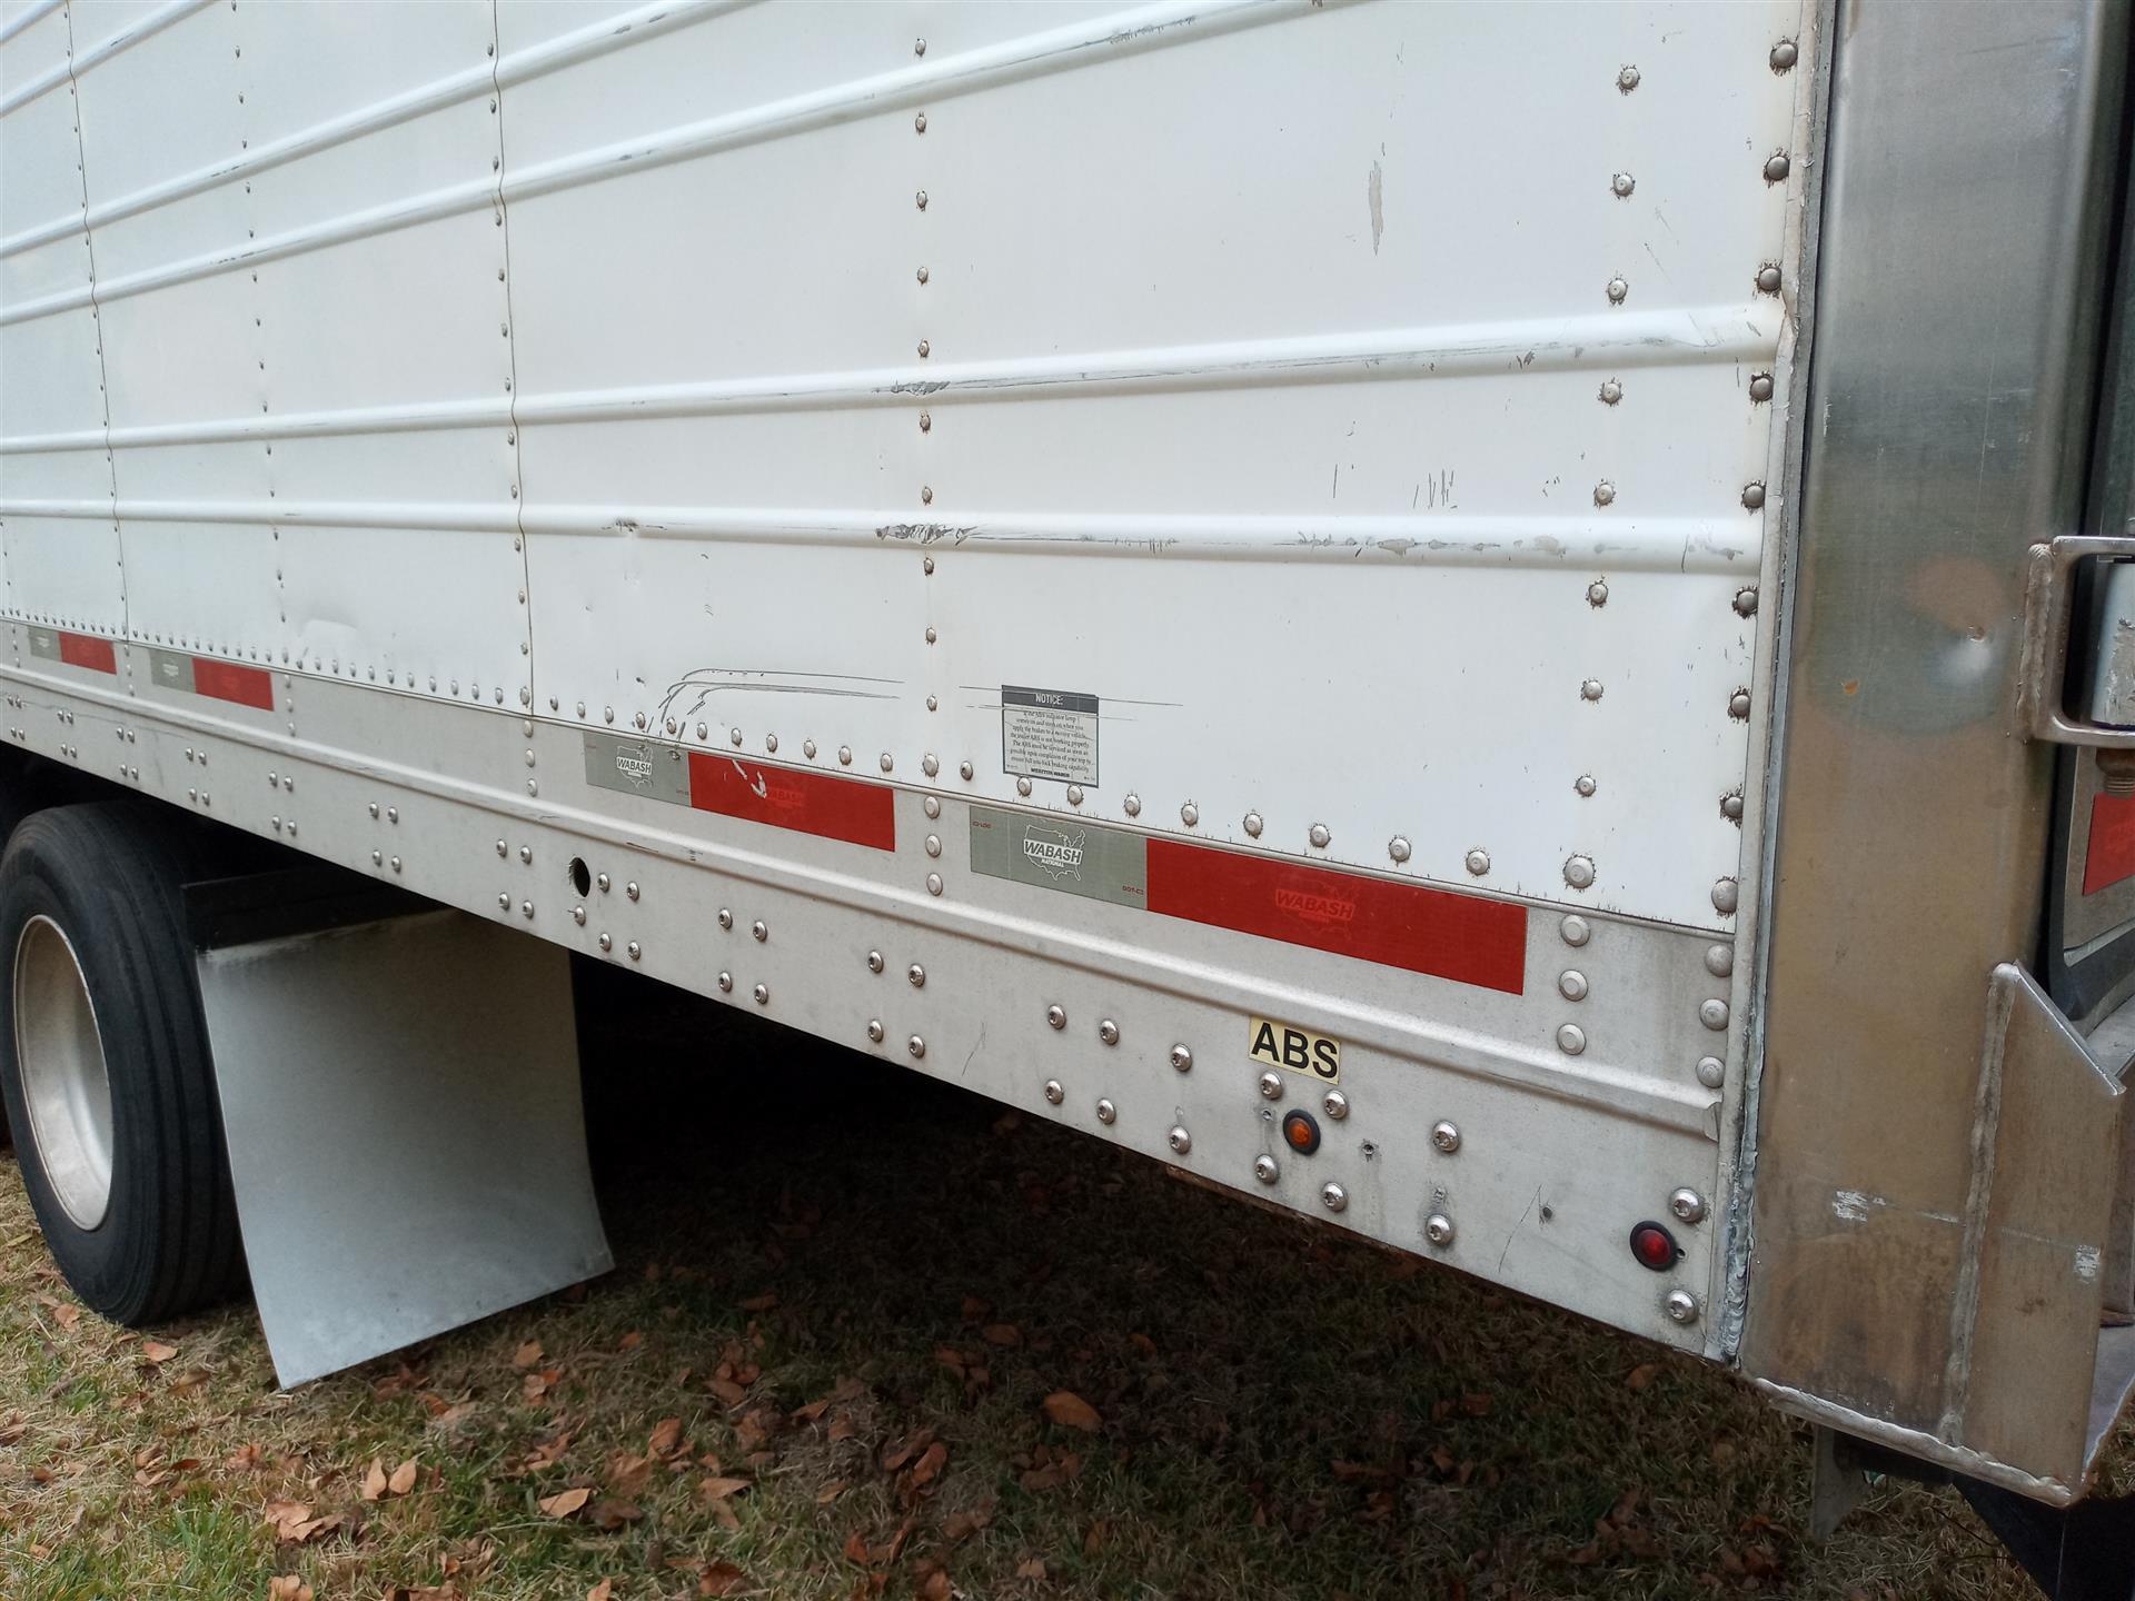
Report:
[[284,1383],[602,1272],[604,963],[1736,1368],[1832,1516],[1949,1473],[2135,1584],[2084,1501],[2129,49],[6,0],[0,1089],[58,1266],[124,1323],[250,1283]]

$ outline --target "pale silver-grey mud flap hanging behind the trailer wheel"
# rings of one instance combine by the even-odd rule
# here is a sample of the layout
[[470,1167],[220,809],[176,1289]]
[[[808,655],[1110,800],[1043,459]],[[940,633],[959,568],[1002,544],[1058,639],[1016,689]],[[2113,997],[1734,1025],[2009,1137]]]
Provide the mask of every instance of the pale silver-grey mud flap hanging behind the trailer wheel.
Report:
[[421,912],[205,948],[199,978],[284,1385],[613,1266],[559,948]]

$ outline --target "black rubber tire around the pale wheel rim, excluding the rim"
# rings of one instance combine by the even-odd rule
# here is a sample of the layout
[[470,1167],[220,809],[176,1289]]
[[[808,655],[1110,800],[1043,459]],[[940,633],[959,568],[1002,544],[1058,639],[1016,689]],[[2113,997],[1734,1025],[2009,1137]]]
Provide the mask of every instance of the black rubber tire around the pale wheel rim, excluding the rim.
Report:
[[[0,1101],[60,1272],[130,1326],[224,1298],[243,1262],[179,901],[186,869],[184,839],[128,803],[38,811],[0,858]],[[49,948],[41,920],[73,948],[111,1089],[109,1200],[92,1227],[62,1204],[23,1097],[15,973],[26,931]]]

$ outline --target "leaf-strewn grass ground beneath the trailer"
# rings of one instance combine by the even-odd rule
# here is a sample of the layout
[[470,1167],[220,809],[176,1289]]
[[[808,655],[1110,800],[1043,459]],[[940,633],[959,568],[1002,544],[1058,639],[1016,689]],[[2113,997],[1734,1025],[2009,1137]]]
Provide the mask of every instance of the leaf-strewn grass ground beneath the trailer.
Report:
[[705,1042],[613,1277],[297,1394],[81,1313],[0,1159],[0,1597],[2035,1595],[1947,1492],[1813,1545],[1717,1370],[728,1016],[602,1029]]

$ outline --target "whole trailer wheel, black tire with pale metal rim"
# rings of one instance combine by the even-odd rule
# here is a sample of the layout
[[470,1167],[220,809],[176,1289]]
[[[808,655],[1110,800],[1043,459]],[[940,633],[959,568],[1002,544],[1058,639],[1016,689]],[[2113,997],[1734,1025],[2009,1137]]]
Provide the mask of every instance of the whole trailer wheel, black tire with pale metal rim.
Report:
[[128,805],[38,811],[0,858],[0,1099],[51,1255],[120,1323],[241,1262],[181,862]]

